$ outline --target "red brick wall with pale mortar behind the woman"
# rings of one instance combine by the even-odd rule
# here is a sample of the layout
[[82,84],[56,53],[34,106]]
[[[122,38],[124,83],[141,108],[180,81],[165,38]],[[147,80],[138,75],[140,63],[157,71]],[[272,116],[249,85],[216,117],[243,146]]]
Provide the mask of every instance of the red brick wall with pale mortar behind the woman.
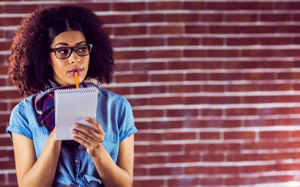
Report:
[[[2,0],[1,0],[2,1]],[[135,125],[133,187],[300,186],[300,1],[81,0],[106,23],[114,81]],[[20,19],[49,0],[0,2],[0,185],[22,98],[6,55]]]

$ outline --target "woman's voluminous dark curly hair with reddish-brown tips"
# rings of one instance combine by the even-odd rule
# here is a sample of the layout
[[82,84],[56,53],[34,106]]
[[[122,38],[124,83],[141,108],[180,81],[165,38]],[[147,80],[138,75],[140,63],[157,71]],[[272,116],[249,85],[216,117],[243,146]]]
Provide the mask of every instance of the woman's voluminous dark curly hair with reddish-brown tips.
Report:
[[15,30],[8,56],[8,78],[21,95],[32,95],[52,80],[47,63],[49,46],[55,36],[69,30],[80,31],[92,44],[86,77],[109,84],[114,69],[110,38],[103,22],[92,10],[73,5],[49,5],[30,13]]

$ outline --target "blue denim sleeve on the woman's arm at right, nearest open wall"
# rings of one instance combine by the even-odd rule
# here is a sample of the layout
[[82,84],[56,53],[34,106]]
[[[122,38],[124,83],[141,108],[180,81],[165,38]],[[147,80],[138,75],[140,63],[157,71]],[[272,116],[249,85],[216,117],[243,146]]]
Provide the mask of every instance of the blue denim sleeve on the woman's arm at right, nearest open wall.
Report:
[[137,129],[134,125],[134,119],[130,103],[121,97],[118,109],[118,128],[119,128],[119,142],[121,143],[125,138],[134,134]]

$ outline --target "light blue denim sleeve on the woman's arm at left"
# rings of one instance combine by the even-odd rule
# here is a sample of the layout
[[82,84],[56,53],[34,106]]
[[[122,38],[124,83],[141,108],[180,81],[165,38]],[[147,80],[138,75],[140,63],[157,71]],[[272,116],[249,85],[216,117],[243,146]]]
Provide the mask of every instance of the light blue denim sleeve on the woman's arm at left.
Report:
[[29,129],[26,108],[23,101],[12,109],[9,119],[9,126],[6,128],[6,132],[9,134],[11,141],[11,133],[23,135],[32,139],[32,133]]

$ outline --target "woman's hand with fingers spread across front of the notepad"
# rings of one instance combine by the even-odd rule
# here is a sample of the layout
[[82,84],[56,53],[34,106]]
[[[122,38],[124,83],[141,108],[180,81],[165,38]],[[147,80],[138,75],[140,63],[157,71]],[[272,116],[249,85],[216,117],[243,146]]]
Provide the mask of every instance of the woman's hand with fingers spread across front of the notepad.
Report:
[[95,127],[95,132],[82,124],[75,123],[74,127],[82,132],[72,129],[72,133],[76,135],[73,136],[73,140],[85,146],[87,148],[86,152],[90,156],[98,156],[104,150],[102,145],[104,141],[104,131],[96,120],[86,117],[85,121]]

